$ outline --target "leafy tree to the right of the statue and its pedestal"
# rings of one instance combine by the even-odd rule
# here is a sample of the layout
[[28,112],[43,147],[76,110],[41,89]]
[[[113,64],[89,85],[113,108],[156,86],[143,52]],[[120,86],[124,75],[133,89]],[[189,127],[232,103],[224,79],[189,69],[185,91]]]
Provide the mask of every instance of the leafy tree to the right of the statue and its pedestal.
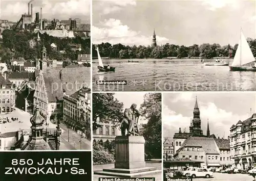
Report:
[[145,152],[154,158],[161,158],[162,127],[161,127],[161,93],[147,93],[140,107],[141,113],[148,120],[144,126]]

